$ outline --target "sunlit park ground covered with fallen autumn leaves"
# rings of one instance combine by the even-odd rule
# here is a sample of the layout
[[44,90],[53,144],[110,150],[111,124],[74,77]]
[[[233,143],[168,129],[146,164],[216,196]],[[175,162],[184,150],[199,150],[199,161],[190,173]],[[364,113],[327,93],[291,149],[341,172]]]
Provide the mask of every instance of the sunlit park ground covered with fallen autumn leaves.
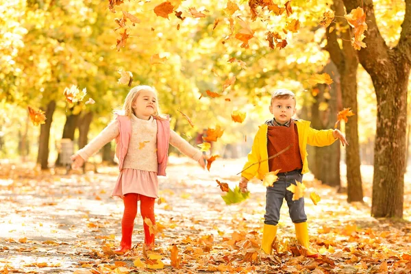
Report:
[[[410,273],[411,186],[406,176],[404,219],[370,216],[372,167],[362,166],[366,203],[304,177],[312,247],[321,258],[299,256],[286,203],[273,256],[260,253],[265,189],[249,184],[250,198],[226,206],[215,179],[237,184],[244,160],[216,160],[210,173],[172,159],[160,178],[155,254],[142,254],[142,219],[134,249],[112,247],[121,238],[123,203],[110,192],[116,167],[86,175],[37,171],[34,164],[0,166],[0,273]],[[342,169],[344,170],[344,169]],[[321,201],[309,198],[315,191]]]

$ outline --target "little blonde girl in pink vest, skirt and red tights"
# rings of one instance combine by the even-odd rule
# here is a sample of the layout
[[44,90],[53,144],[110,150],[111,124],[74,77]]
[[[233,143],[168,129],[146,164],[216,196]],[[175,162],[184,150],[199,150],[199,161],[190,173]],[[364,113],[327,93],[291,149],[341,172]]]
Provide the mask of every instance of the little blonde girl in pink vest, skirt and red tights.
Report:
[[154,201],[158,198],[158,175],[165,176],[169,143],[205,167],[201,151],[170,129],[169,116],[159,114],[158,100],[151,86],[136,86],[129,91],[123,105],[123,115],[94,138],[86,147],[71,156],[73,168],[82,166],[103,145],[116,138],[116,156],[120,175],[112,196],[123,199],[124,213],[121,221],[121,244],[116,253],[132,247],[134,219],[137,202],[144,223],[145,245],[143,251],[153,249],[154,235],[144,222],[149,218],[155,224]]

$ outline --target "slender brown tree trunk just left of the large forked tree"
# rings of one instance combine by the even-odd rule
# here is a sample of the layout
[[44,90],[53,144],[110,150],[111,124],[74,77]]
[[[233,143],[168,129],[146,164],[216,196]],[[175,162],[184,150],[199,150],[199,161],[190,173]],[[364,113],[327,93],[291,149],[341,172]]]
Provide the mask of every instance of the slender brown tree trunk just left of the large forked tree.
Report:
[[[349,27],[345,18],[343,18],[344,4],[342,0],[334,0],[331,5],[332,10],[336,14],[336,22],[340,27]],[[337,30],[330,32],[330,28],[336,27],[336,23],[332,23],[327,27],[327,51],[330,58],[336,64],[338,73],[340,73],[340,86],[343,98],[343,108],[351,108],[354,116],[349,117],[349,121],[345,123],[345,136],[349,145],[345,148],[345,163],[347,164],[347,201],[363,201],[364,195],[362,192],[362,179],[360,171],[360,145],[358,141],[358,108],[357,108],[357,69],[358,57],[355,50],[351,46],[351,37],[349,32],[340,32],[340,37],[337,37]],[[341,45],[338,43],[338,38],[341,39]]]

